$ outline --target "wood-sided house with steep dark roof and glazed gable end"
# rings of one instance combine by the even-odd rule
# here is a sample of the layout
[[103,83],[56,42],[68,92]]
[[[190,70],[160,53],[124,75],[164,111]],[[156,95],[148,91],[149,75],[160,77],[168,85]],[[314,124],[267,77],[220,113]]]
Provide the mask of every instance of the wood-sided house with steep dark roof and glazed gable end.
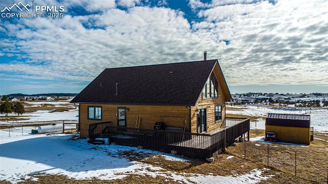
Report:
[[[71,103],[79,104],[80,137],[89,125],[210,133],[225,126],[232,100],[217,59],[107,68]],[[137,123],[137,120],[139,123]]]

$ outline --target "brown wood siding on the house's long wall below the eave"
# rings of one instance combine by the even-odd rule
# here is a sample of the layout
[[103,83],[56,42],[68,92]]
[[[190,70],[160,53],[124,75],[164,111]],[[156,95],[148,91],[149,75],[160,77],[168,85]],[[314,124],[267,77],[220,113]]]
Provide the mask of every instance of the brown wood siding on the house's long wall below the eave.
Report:
[[[101,106],[101,120],[88,120],[88,106]],[[186,118],[186,131],[189,131],[189,109],[186,106],[160,106],[160,105],[109,105],[109,104],[80,104],[79,123],[80,137],[88,137],[89,124],[111,121],[111,126],[117,126],[117,107],[126,107],[127,127],[135,127],[137,116],[141,117],[142,129],[154,129],[161,116],[177,116]],[[197,117],[196,117],[197,118]],[[185,127],[184,118],[163,117],[165,126]]]

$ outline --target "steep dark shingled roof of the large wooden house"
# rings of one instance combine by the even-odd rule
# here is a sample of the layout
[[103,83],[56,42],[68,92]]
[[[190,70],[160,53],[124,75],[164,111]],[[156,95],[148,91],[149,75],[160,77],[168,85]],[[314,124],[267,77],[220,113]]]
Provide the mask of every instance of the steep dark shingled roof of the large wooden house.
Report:
[[216,63],[218,60],[107,68],[71,103],[195,105]]

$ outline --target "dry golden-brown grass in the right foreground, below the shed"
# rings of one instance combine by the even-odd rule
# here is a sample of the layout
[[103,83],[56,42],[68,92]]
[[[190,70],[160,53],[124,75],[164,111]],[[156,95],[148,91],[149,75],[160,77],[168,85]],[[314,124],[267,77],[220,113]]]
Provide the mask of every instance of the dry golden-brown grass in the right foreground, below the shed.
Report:
[[[264,130],[263,130],[264,131]],[[251,131],[252,135],[264,135],[259,130]],[[321,136],[323,140],[328,137]],[[262,183],[326,183],[328,174],[328,142],[314,140],[310,146],[291,146],[280,144],[267,144],[246,142],[246,158],[254,163],[268,167],[269,145],[269,168],[267,174],[273,174],[267,181]],[[244,157],[244,144],[238,143],[229,147],[227,152],[239,157]],[[296,176],[295,176],[295,152],[296,152]],[[279,173],[279,174],[276,174]]]

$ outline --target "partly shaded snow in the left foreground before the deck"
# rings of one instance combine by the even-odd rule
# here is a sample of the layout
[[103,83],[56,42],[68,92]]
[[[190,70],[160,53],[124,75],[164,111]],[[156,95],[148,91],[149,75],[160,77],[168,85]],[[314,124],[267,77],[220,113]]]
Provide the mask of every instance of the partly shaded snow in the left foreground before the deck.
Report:
[[[13,135],[15,134],[15,136]],[[140,162],[129,162],[119,151],[135,150],[140,153],[161,154],[171,160],[185,160],[176,155],[118,145],[92,145],[86,139],[71,139],[73,134],[36,134],[8,136],[0,130],[0,180],[12,183],[29,174],[46,173],[66,175],[75,179],[118,179],[129,174],[165,176],[182,183],[256,183],[266,179],[261,170],[237,176],[179,174],[164,171]],[[231,158],[233,159],[233,158]],[[187,160],[186,160],[187,162]]]

